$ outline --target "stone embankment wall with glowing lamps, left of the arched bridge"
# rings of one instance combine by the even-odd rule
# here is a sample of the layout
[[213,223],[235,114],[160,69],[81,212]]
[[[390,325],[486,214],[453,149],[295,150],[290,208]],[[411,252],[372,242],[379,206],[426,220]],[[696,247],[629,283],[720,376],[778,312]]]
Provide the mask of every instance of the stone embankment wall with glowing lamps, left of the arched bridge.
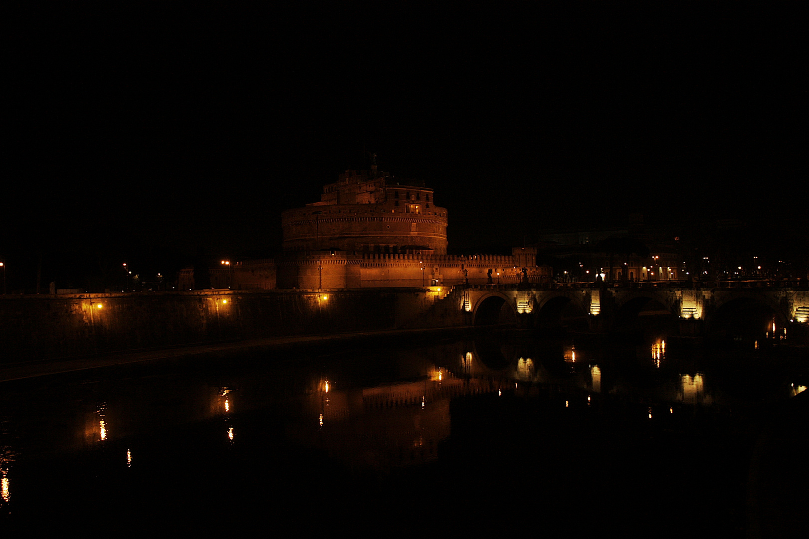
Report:
[[430,327],[435,290],[188,291],[0,298],[0,363],[299,334]]

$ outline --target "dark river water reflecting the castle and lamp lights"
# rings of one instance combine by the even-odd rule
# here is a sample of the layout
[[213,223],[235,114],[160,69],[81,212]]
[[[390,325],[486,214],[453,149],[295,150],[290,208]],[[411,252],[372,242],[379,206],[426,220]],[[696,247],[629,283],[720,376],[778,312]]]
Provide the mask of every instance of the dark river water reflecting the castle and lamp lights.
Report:
[[806,369],[769,342],[493,333],[6,382],[0,525],[745,537]]

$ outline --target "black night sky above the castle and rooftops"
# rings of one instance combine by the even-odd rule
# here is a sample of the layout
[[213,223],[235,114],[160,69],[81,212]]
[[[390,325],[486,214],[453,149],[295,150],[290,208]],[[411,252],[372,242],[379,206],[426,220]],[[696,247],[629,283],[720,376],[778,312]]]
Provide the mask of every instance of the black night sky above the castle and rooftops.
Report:
[[369,152],[435,189],[451,253],[637,213],[794,248],[801,21],[731,4],[11,17],[0,257],[18,286],[37,261],[64,283],[272,257],[281,211]]

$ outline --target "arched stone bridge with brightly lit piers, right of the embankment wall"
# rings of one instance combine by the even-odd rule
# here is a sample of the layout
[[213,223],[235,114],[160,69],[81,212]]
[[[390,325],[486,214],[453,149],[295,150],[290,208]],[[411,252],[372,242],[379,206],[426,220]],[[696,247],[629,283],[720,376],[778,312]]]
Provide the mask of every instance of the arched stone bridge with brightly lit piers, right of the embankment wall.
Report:
[[[722,286],[724,285],[724,286]],[[455,286],[437,302],[467,325],[625,331],[667,326],[679,334],[809,333],[809,289],[772,282],[641,282]],[[791,329],[790,329],[791,328]]]

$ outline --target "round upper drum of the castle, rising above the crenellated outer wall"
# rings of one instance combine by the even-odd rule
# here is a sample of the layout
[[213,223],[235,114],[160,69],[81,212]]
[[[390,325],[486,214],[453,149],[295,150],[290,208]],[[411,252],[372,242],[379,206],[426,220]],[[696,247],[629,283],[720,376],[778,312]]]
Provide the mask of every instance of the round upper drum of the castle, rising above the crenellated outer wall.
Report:
[[320,202],[284,211],[284,250],[446,254],[447,209],[435,206],[433,190],[373,168],[346,171]]

